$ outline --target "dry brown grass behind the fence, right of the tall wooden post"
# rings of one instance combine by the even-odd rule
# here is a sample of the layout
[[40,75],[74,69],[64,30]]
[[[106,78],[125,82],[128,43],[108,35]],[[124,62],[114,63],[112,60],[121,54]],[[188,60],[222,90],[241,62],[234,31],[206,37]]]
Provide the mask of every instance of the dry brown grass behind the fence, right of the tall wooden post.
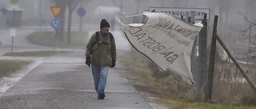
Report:
[[[241,66],[255,83],[255,68],[251,65]],[[213,99],[215,103],[256,106],[256,93],[233,63],[218,63],[215,66]]]

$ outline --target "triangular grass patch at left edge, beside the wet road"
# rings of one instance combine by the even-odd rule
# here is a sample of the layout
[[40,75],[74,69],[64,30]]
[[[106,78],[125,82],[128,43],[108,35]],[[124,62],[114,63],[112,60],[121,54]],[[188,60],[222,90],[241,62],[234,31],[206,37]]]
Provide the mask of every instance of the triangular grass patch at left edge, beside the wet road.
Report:
[[0,60],[0,78],[10,76],[11,73],[30,64],[28,60]]

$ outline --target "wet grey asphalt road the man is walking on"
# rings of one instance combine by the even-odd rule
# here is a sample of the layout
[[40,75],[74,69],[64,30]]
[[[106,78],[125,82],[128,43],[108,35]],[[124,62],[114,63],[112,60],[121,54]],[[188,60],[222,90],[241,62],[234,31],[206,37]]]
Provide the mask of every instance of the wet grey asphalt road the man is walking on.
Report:
[[[116,40],[119,41],[118,45],[122,44],[120,45],[122,48],[118,49],[121,54],[130,49],[124,47],[126,45],[123,45],[124,42],[120,37]],[[23,44],[18,43],[18,45]],[[10,49],[8,48],[10,45],[0,46],[2,46],[0,53]],[[42,47],[41,49],[51,48]],[[18,48],[17,50],[22,51]],[[77,49],[57,56],[40,57],[36,60],[39,63],[37,66],[30,69],[21,80],[0,95],[0,109],[153,108],[126,80],[123,75],[126,72],[125,67],[119,62],[115,68],[110,68],[106,99],[97,99],[90,68],[85,64],[84,53],[83,49]]]

